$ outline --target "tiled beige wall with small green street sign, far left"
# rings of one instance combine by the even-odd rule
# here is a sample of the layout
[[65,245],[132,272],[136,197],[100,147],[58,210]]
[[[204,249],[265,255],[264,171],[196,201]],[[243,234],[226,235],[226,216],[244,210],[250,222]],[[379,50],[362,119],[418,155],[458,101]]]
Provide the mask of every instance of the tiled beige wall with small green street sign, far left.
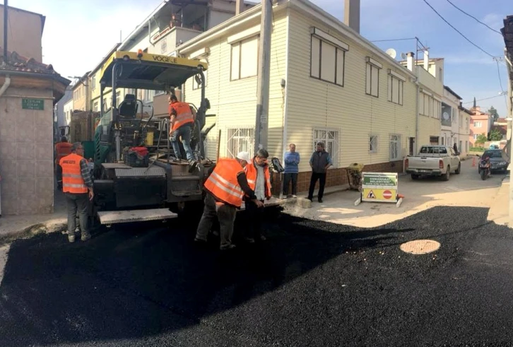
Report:
[[[45,110],[23,110],[21,98],[44,98]],[[52,90],[8,88],[0,99],[2,215],[52,213]]]

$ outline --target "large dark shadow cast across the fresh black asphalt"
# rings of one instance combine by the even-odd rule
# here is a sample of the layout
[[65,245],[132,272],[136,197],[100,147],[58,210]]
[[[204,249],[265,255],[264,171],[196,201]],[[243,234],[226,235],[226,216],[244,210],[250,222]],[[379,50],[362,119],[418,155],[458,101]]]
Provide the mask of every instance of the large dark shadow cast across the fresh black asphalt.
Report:
[[[485,216],[481,210],[476,208]],[[423,213],[368,230],[281,215],[264,223],[269,240],[239,242],[224,253],[215,237],[208,245],[195,245],[199,218],[189,218],[194,225],[124,225],[88,243],[69,244],[60,234],[15,242],[0,287],[0,344],[105,341],[178,331],[281,290],[342,254],[399,245],[422,230],[451,236],[442,220],[423,220]],[[238,228],[247,223],[241,213]],[[354,258],[343,261],[348,269],[354,266]]]

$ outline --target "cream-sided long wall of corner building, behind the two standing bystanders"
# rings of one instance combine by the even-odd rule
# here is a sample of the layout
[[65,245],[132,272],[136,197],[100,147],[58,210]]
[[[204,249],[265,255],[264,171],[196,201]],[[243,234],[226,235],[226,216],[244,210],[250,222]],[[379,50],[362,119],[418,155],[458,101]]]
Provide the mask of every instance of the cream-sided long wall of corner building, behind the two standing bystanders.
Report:
[[[399,161],[401,164],[398,165],[402,165],[403,156],[408,154],[409,139],[415,137],[416,87],[410,81],[409,71],[297,11],[290,11],[289,25],[287,142],[295,143],[302,155],[300,171],[310,170],[308,160],[314,151],[314,137],[319,138],[322,131],[334,134],[333,140],[331,134],[327,134],[326,139],[336,146],[335,167],[390,161]],[[312,27],[322,30],[320,35],[327,34],[332,42],[347,45],[343,57],[343,86],[338,80],[336,84],[311,77]],[[315,49],[318,49],[317,45]],[[338,57],[342,58],[341,55]],[[367,57],[381,65],[381,69],[367,62]],[[319,59],[319,64],[330,64],[322,61],[322,57]],[[315,65],[316,69],[319,64]],[[373,66],[372,72],[379,70],[376,73],[379,78],[370,78],[369,64]],[[336,66],[337,69],[342,67],[341,64]],[[406,80],[402,81],[402,105],[389,101],[389,69]],[[338,78],[342,78],[340,72]],[[372,82],[367,86],[370,80]],[[399,141],[399,155],[391,158],[395,141]]]

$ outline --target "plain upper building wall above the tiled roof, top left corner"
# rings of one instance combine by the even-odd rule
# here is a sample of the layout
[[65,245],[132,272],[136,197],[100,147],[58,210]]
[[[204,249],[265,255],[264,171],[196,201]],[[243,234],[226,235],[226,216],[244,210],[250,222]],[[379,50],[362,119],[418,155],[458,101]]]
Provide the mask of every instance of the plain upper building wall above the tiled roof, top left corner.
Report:
[[[45,16],[9,6],[7,49],[27,59],[42,61],[41,37],[44,23]],[[0,37],[3,42],[4,5],[0,5]]]

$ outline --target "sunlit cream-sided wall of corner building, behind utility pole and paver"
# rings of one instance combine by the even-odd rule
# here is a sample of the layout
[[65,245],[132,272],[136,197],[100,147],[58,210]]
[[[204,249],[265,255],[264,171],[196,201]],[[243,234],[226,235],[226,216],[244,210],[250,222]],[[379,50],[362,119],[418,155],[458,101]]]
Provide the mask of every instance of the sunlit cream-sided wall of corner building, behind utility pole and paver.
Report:
[[[283,112],[284,94],[281,79],[285,78],[285,52],[287,37],[287,17],[285,9],[275,11],[274,26],[271,34],[271,81],[269,91],[269,141],[268,148],[271,156],[283,155]],[[208,61],[206,72],[206,98],[211,102],[208,114],[216,117],[207,118],[206,127],[216,122],[208,135],[207,151],[210,158],[216,158],[218,131],[221,131],[220,155],[235,156],[236,151],[254,152],[254,128],[257,114],[257,76],[247,76],[235,79],[232,76],[232,66],[238,64],[232,60],[232,49],[242,49],[242,62],[252,65],[246,71],[257,70],[258,45],[251,43],[260,33],[260,18],[254,18],[244,25],[236,25],[226,35],[216,40],[205,42],[203,47],[192,47],[181,51],[186,57],[194,52],[208,47]],[[248,36],[249,35],[249,36]],[[237,38],[238,37],[238,38]],[[239,40],[244,37],[243,40]],[[242,42],[242,43],[241,43]],[[249,45],[252,45],[251,47]],[[235,71],[235,67],[234,67]],[[241,70],[242,71],[242,70]],[[193,86],[194,84],[194,86]],[[184,98],[199,106],[201,89],[197,88],[193,79],[189,79],[184,86]]]

